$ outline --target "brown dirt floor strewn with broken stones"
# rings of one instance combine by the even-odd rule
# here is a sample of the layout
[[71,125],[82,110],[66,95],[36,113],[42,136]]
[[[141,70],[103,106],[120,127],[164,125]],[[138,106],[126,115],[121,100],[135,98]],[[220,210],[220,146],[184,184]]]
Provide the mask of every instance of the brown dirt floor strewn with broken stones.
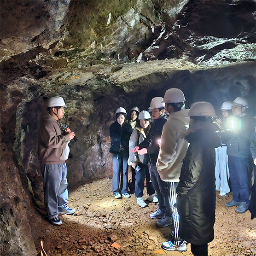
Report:
[[[45,233],[39,239],[43,240],[48,256],[192,256],[190,244],[186,252],[161,250],[171,228],[157,227],[156,220],[149,217],[157,204],[147,202],[148,207],[141,208],[134,194],[131,198],[115,199],[111,182],[111,179],[97,180],[70,192],[69,206],[76,209],[76,215],[62,215],[62,226],[45,221]],[[235,207],[224,206],[231,200],[231,193],[225,198],[218,194],[215,239],[208,244],[209,256],[256,255],[256,219],[250,219],[249,211],[239,214]],[[38,252],[40,240],[36,244]],[[122,247],[114,248],[111,246],[114,242]]]

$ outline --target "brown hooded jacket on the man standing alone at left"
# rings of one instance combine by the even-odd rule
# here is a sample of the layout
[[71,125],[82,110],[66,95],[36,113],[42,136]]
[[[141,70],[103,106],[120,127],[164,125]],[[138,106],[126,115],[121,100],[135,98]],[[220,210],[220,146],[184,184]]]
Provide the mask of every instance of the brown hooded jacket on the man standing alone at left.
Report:
[[38,138],[38,156],[41,163],[64,163],[69,140],[69,135],[60,130],[58,122],[48,113],[44,115]]

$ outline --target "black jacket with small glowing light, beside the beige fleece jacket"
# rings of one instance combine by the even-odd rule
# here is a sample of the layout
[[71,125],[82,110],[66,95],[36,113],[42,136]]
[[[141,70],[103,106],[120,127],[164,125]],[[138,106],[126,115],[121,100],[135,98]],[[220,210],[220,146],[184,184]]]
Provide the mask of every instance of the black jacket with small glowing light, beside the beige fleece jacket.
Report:
[[143,140],[139,147],[140,149],[146,148],[151,159],[151,164],[156,165],[159,153],[159,140],[161,139],[163,125],[167,122],[166,115],[159,117],[155,120],[150,128],[149,133],[145,140]]

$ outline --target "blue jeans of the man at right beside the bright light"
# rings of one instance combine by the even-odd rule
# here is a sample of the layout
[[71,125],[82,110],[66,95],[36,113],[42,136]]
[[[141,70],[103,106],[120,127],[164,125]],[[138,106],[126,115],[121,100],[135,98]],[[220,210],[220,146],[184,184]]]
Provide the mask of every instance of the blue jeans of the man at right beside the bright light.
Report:
[[228,156],[228,167],[233,200],[249,204],[249,158]]

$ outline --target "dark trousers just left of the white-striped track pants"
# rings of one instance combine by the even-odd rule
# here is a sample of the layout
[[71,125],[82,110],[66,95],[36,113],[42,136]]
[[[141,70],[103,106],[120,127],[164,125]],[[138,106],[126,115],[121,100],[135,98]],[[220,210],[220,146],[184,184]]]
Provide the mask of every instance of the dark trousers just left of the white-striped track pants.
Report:
[[171,217],[172,212],[169,182],[161,180],[155,165],[151,165],[151,180],[153,187],[157,192],[159,209],[163,211],[166,216]]

